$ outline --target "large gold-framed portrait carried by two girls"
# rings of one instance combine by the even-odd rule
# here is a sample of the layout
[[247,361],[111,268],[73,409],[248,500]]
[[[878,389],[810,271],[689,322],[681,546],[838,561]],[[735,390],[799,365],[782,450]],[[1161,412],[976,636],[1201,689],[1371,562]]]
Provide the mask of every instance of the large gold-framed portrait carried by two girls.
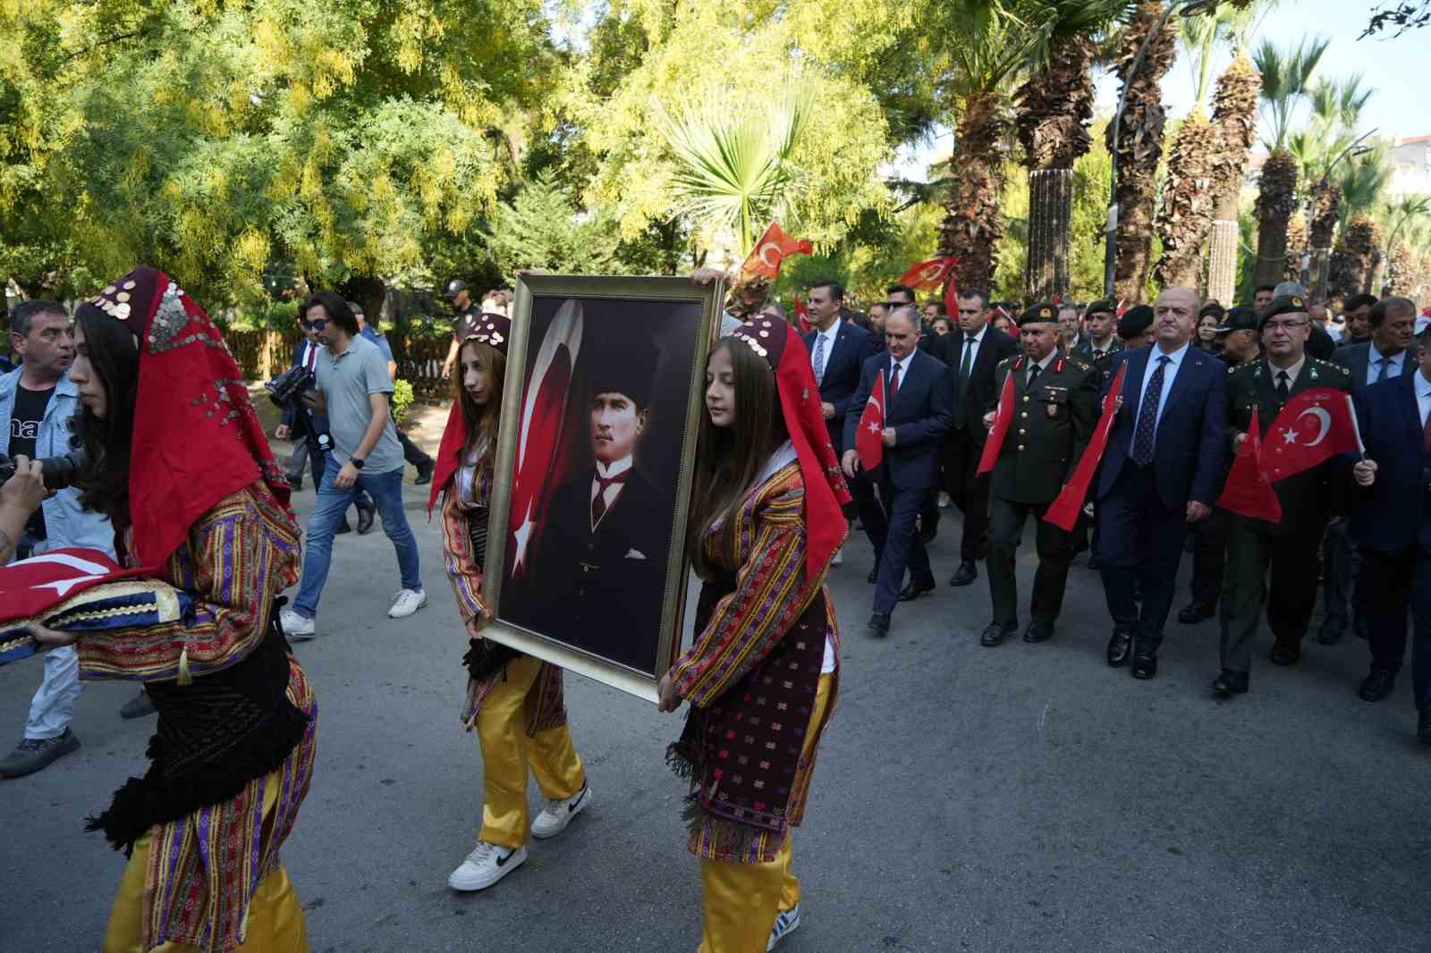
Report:
[[[485,555],[488,571],[484,574],[482,581],[482,595],[494,611],[491,624],[484,630],[487,638],[577,674],[587,675],[638,698],[645,698],[651,703],[657,701],[657,684],[680,654],[681,634],[685,622],[690,568],[684,552],[684,542],[685,522],[690,514],[691,474],[695,461],[695,435],[698,432],[700,415],[705,412],[705,358],[720,333],[723,300],[724,286],[720,282],[703,286],[685,278],[594,275],[524,275],[519,278],[515,309],[512,312],[511,341],[508,342],[507,375],[502,385],[504,411],[498,432],[495,479],[489,509],[491,529],[488,532]],[[565,318],[562,316],[564,312]],[[575,318],[578,328],[575,336],[571,336],[572,313],[578,315]],[[633,322],[641,323],[628,325],[624,323],[624,318],[615,316],[625,313],[633,315]],[[661,318],[663,315],[664,318]],[[600,321],[597,321],[598,316]],[[560,323],[558,328],[558,322],[565,323]],[[561,338],[562,343],[555,351],[548,343],[548,339],[554,333],[568,335],[567,338]],[[534,341],[535,335],[541,335],[541,338]],[[650,434],[641,436],[637,452],[630,458],[635,461],[635,465],[628,462],[628,466],[633,471],[640,468],[644,472],[641,462],[648,455],[645,445],[651,439],[655,439],[655,448],[651,448],[650,452],[655,454],[658,451],[665,466],[663,475],[653,474],[644,476],[644,479],[647,484],[665,484],[658,488],[658,492],[661,492],[661,505],[670,504],[668,548],[664,561],[661,561],[664,575],[660,577],[660,587],[655,587],[653,581],[657,567],[643,565],[640,561],[644,561],[645,557],[637,551],[637,547],[633,547],[627,555],[631,557],[634,554],[638,559],[628,558],[625,564],[637,567],[634,571],[641,574],[640,580],[651,584],[641,590],[643,598],[621,600],[618,605],[612,605],[614,612],[601,612],[597,618],[592,618],[591,610],[595,608],[594,598],[588,597],[585,588],[577,590],[577,592],[581,592],[581,598],[574,597],[571,587],[567,585],[568,578],[564,571],[552,570],[551,567],[571,567],[575,564],[581,572],[592,568],[597,571],[592,574],[592,578],[610,574],[601,565],[591,565],[570,551],[571,541],[584,537],[572,537],[571,532],[562,529],[562,525],[570,528],[577,521],[571,518],[560,521],[550,511],[558,509],[558,505],[552,499],[555,494],[562,492],[557,489],[558,484],[562,485],[562,489],[568,491],[564,494],[564,498],[570,499],[575,488],[581,487],[582,472],[594,472],[592,465],[595,464],[597,446],[601,445],[600,441],[602,439],[602,431],[595,422],[594,409],[590,411],[588,419],[591,422],[584,429],[580,424],[570,424],[570,421],[581,415],[581,411],[572,409],[571,401],[575,401],[578,406],[591,406],[591,396],[578,392],[578,382],[592,373],[600,373],[600,366],[607,366],[608,369],[617,368],[618,372],[625,372],[631,365],[640,365],[641,346],[633,345],[631,351],[624,349],[628,345],[628,335],[637,341],[644,341],[648,335],[657,335],[655,339],[665,342],[664,348],[658,348],[658,372],[653,371],[657,383],[665,383],[664,406],[661,392],[655,391],[654,396],[648,398],[647,408],[641,411],[643,415],[653,412],[654,405],[654,412],[661,415],[658,419],[660,436],[653,438]],[[561,348],[567,345],[575,349],[577,353],[574,358],[570,351],[562,355]],[[564,409],[555,418],[560,422],[567,422],[567,425],[555,428],[560,436],[545,441],[538,434],[551,434],[551,428],[541,426],[542,421],[551,418],[541,418],[539,409],[542,406],[550,409],[551,402],[541,404],[539,401],[548,394],[545,386],[552,376],[551,353],[562,355],[561,371],[568,375]],[[539,359],[538,366],[534,362]],[[638,373],[640,366],[631,372]],[[539,378],[535,382],[535,391],[532,381],[528,379],[531,376]],[[673,406],[677,402],[673,395],[681,391],[675,383],[677,381],[684,382],[684,394],[680,394],[681,405],[678,408]],[[597,385],[592,383],[591,386]],[[645,419],[643,426],[650,429],[653,421],[650,418],[643,419]],[[541,446],[534,449],[538,441]],[[678,441],[678,446],[673,445],[673,441]],[[518,465],[524,471],[534,469],[541,472],[541,454],[548,451],[548,442],[552,448],[550,451],[552,461],[587,459],[588,468],[582,471],[581,466],[571,465],[567,471],[562,471],[555,464],[551,464],[551,472],[567,472],[568,476],[552,476],[544,481],[534,479],[529,474],[519,474]],[[518,464],[519,452],[521,464]],[[600,471],[595,471],[594,475],[600,476]],[[595,497],[602,491],[590,478],[585,485],[592,487],[590,499],[594,505]],[[665,491],[670,491],[668,499]],[[542,525],[541,519],[524,518],[519,525],[514,527],[511,519],[514,494],[521,497],[519,507],[524,508],[528,517],[535,509],[541,519],[545,519],[550,525]],[[622,505],[622,495],[633,499],[633,508],[640,502],[634,489],[622,488],[617,497],[617,502],[611,504],[612,512],[617,512]],[[544,501],[547,509],[541,509],[534,502],[535,499]],[[650,524],[651,519],[660,519],[660,508],[648,507],[650,512],[644,522]],[[558,511],[568,517],[572,512],[570,507],[560,508]],[[637,509],[628,508],[627,512],[637,512]],[[630,517],[627,521],[630,522]],[[591,539],[595,539],[600,524],[601,518],[594,518],[592,525],[585,528],[591,534]],[[654,534],[645,538],[660,539],[658,529],[645,529],[645,532]],[[535,545],[534,539],[537,541]],[[591,545],[588,542],[587,548],[591,548]],[[660,551],[658,545],[648,548]],[[653,559],[653,562],[657,562],[657,559]],[[615,567],[612,571],[617,572],[624,571],[625,564],[610,562],[610,565]],[[550,578],[545,578],[544,572]],[[571,570],[571,574],[577,578],[578,584],[584,582],[585,577],[578,575],[577,570]],[[651,632],[648,631],[650,625],[630,627],[635,632],[631,641],[637,641],[637,635],[640,635],[640,642],[630,647],[633,655],[640,655],[640,661],[633,661],[633,658],[618,661],[612,658],[618,653],[608,651],[602,654],[584,637],[581,641],[577,641],[570,632],[562,634],[560,631],[567,624],[565,620],[568,617],[565,614],[571,612],[570,618],[580,620],[575,624],[580,632],[590,631],[594,637],[600,637],[597,641],[611,640],[611,620],[630,615],[630,610],[633,610],[631,602],[640,602],[641,612],[641,615],[633,615],[633,618],[643,621],[651,618],[650,612],[655,611],[651,594],[657,588],[660,590],[660,625],[655,632],[654,645],[651,642]],[[610,591],[611,587],[607,585],[605,592]],[[545,620],[545,624],[534,620]],[[618,641],[620,635],[617,632]],[[621,651],[624,653],[625,648],[622,644]],[[654,655],[648,651],[651,648],[654,648]]]

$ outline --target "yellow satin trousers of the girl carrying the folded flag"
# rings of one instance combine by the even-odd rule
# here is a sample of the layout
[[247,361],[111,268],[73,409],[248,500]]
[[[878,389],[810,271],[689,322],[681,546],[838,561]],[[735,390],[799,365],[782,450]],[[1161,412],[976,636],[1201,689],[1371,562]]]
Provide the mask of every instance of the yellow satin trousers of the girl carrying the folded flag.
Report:
[[[263,818],[272,817],[282,790],[282,768],[263,784]],[[104,953],[146,953],[143,946],[145,871],[149,867],[150,836],[135,841],[135,853],[124,866],[114,891],[114,906],[104,930]],[[265,877],[249,901],[248,930],[235,953],[308,953],[303,906],[293,891],[288,871],[279,869]],[[162,943],[152,953],[197,953],[187,943]]]

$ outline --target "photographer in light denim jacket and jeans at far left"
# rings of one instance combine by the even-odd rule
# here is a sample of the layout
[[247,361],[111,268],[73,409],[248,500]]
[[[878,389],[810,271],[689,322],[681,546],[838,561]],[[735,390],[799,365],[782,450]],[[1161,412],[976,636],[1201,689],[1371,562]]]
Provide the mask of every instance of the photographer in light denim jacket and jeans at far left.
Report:
[[[33,461],[30,468],[39,474],[37,458],[63,456],[73,449],[69,422],[79,409],[79,386],[69,378],[74,361],[70,316],[63,305],[53,300],[21,302],[10,312],[10,343],[21,363],[0,376],[0,454]],[[20,475],[17,466],[16,476],[6,485]],[[9,534],[3,528],[0,532]],[[74,489],[62,489],[33,508],[23,529],[10,535],[9,542],[10,547],[0,545],[0,562],[62,547],[86,547],[114,555],[114,532],[109,519],[84,512]],[[6,548],[11,549],[10,555],[4,555]],[[80,688],[73,648],[54,650],[44,657],[44,681],[30,701],[24,738],[0,760],[0,777],[33,774],[80,747],[70,731]],[[152,711],[147,703],[143,707],[145,711],[136,708],[136,714]]]

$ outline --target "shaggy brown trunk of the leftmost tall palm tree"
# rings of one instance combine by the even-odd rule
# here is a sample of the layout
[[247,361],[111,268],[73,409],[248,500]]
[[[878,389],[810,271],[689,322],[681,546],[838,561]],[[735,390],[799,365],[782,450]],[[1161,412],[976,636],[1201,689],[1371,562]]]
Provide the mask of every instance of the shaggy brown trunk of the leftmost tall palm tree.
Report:
[[993,280],[995,246],[1003,238],[1003,160],[1009,117],[1002,97],[985,93],[964,102],[949,157],[950,187],[939,226],[939,253],[953,255],[960,288],[985,292]]

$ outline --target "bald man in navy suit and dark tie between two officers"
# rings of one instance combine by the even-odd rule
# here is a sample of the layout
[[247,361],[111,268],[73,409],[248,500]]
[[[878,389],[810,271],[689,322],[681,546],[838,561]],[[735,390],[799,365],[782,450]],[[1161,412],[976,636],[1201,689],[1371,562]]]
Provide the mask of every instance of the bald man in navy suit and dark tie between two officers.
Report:
[[[1226,475],[1226,365],[1189,348],[1198,292],[1169,288],[1153,305],[1149,348],[1113,355],[1103,382],[1128,365],[1098,482],[1098,562],[1113,637],[1108,664],[1158,674],[1188,524],[1205,519]],[[1133,587],[1142,590],[1142,610]]]

